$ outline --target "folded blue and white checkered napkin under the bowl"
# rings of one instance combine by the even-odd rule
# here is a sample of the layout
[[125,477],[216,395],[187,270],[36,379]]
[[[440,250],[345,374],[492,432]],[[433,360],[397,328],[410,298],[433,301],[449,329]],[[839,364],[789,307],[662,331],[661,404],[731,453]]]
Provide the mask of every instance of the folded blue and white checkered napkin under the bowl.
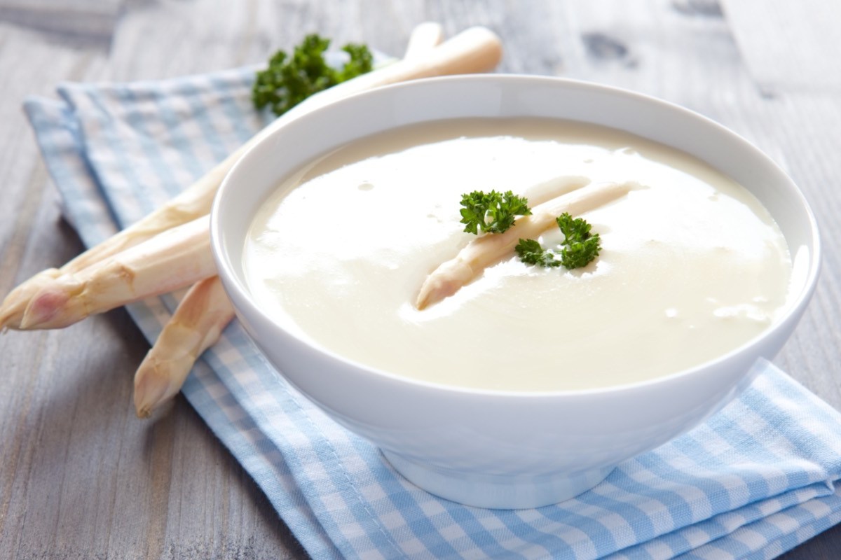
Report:
[[[261,128],[250,86],[240,70],[65,84],[61,101],[29,100],[84,242],[150,212]],[[131,306],[150,340],[172,303]],[[291,389],[237,324],[184,395],[316,558],[768,558],[841,521],[841,415],[771,364],[705,425],[537,510],[482,510],[417,489]]]

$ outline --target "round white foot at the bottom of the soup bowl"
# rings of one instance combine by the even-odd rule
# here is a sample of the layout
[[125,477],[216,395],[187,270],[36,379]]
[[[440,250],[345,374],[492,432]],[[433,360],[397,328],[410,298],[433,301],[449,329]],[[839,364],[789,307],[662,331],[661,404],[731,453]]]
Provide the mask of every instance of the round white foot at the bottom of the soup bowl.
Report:
[[383,451],[391,466],[412,484],[446,500],[500,510],[521,510],[557,504],[593,488],[613,467],[576,474],[515,476],[474,474],[430,467]]

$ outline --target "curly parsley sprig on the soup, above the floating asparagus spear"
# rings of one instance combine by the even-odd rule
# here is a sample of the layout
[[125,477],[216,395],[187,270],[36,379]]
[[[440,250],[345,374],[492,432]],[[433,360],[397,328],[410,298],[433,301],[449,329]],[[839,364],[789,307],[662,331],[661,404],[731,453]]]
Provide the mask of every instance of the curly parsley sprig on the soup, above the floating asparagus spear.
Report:
[[528,216],[532,210],[523,196],[511,191],[473,191],[462,195],[461,214],[464,231],[478,234],[503,233],[516,222],[517,216]]

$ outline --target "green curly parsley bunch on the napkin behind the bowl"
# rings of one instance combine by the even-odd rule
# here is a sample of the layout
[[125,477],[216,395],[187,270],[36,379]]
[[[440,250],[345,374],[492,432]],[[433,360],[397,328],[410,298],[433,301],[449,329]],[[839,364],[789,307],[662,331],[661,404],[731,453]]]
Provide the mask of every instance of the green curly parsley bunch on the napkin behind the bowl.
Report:
[[271,107],[272,113],[279,117],[314,93],[373,68],[373,55],[364,44],[346,44],[342,50],[350,60],[341,69],[333,68],[324,58],[329,46],[330,39],[309,34],[294,48],[291,57],[278,50],[269,60],[267,69],[257,72],[251,89],[254,107]]

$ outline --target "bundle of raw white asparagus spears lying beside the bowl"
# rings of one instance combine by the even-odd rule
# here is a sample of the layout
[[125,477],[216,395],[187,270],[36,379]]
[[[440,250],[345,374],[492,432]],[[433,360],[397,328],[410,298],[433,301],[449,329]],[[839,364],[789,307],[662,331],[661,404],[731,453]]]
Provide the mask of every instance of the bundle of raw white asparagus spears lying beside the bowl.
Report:
[[34,275],[0,306],[0,329],[66,327],[93,313],[193,285],[135,376],[135,406],[147,417],[175,395],[198,354],[233,317],[214,277],[209,213],[215,191],[246,149],[290,119],[352,93],[428,76],[490,71],[501,45],[488,29],[471,28],[438,44],[437,24],[412,34],[403,60],[333,86],[278,118],[166,205],[88,249],[60,269]]

